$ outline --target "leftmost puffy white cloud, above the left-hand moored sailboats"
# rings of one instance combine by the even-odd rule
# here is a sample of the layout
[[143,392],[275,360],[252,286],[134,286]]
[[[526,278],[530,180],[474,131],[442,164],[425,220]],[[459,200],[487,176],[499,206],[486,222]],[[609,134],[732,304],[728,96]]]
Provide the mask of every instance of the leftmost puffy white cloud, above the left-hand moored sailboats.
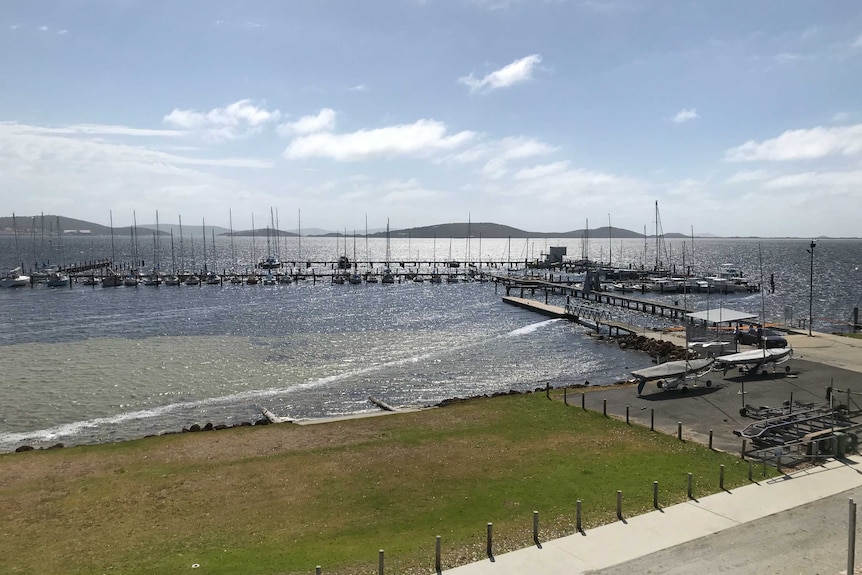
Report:
[[260,133],[270,122],[278,121],[281,113],[256,106],[251,100],[239,100],[224,108],[209,112],[175,108],[162,121],[189,131],[200,132],[215,141],[235,140]]

